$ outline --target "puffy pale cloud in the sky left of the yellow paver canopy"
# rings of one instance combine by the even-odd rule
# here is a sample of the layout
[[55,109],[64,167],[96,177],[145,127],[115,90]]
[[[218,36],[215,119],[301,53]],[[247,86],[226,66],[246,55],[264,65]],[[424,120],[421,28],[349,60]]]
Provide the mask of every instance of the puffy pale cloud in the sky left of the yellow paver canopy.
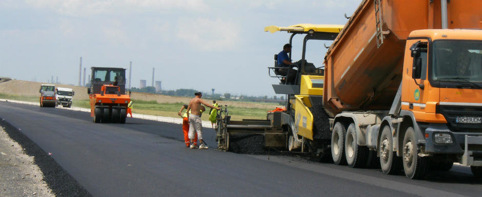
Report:
[[232,49],[239,39],[239,27],[220,18],[180,19],[177,38],[202,51]]

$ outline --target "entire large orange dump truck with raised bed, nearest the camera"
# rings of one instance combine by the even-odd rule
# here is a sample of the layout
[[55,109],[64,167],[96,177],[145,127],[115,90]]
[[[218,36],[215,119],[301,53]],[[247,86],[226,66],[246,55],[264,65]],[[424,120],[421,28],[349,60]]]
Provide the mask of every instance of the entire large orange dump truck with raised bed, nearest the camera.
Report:
[[[325,57],[335,164],[482,174],[482,1],[363,1]],[[478,30],[476,30],[478,29]]]

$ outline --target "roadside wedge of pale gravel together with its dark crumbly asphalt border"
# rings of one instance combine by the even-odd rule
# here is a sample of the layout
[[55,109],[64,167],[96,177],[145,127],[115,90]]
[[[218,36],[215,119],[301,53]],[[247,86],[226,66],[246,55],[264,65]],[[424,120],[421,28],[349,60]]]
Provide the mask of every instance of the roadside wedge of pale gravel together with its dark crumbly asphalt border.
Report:
[[0,196],[92,196],[4,117],[0,129]]

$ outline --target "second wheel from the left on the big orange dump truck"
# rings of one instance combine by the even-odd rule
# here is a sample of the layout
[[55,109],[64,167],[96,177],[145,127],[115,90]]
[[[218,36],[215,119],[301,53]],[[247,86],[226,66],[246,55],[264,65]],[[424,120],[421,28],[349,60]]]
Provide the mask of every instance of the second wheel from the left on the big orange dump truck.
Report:
[[359,146],[356,143],[355,124],[351,123],[345,137],[345,156],[347,164],[351,168],[365,167],[368,157],[368,147]]

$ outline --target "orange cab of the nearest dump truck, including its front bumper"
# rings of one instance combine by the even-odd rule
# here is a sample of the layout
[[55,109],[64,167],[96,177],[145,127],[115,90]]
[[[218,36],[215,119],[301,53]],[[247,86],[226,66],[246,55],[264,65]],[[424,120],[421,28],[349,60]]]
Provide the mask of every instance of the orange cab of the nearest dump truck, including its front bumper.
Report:
[[400,125],[413,125],[424,154],[452,154],[454,162],[482,166],[481,35],[416,30],[407,39]]

